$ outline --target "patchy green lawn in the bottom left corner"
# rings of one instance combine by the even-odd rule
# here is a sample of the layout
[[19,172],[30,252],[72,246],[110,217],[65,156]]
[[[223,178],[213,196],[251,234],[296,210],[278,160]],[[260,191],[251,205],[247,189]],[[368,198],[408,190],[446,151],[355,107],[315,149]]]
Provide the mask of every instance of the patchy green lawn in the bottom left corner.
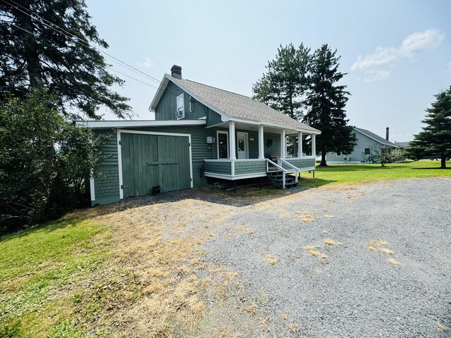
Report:
[[0,237],[0,337],[82,337],[73,287],[104,261],[110,235],[60,220]]

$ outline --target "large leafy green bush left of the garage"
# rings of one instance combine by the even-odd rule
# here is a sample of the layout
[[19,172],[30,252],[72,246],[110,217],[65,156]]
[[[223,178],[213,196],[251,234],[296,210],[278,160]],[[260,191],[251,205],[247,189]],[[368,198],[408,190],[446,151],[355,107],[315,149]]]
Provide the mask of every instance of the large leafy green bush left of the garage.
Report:
[[85,179],[102,161],[104,140],[66,120],[55,102],[35,89],[0,107],[0,232],[80,206]]

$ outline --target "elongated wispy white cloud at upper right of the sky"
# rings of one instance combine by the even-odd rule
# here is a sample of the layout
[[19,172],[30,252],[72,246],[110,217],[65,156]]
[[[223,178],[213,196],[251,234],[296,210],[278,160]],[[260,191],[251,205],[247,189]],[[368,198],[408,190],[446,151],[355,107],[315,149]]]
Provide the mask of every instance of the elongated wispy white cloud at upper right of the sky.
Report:
[[366,75],[367,82],[380,81],[387,78],[390,72],[381,70],[381,66],[393,65],[403,58],[413,59],[414,56],[428,49],[435,49],[443,42],[445,34],[440,30],[415,32],[406,37],[399,47],[377,47],[373,53],[359,56],[351,66],[351,70],[360,70]]

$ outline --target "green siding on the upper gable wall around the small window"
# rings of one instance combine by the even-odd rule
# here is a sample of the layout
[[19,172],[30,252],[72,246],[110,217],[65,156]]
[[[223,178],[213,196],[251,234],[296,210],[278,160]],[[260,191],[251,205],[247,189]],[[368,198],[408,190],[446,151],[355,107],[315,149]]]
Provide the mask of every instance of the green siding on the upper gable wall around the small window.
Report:
[[[208,115],[209,118],[213,118],[214,121],[218,120],[215,116],[215,114],[218,115],[217,113],[214,113],[214,111],[209,110],[206,106],[196,101],[190,96],[190,94],[187,94],[185,91],[180,89],[180,87],[173,84],[173,82],[168,83],[168,87],[164,91],[158,105],[155,108],[155,119],[177,120],[177,118],[175,118],[175,111],[177,109],[175,98],[182,93],[185,94],[185,118],[183,118],[183,120],[197,120],[199,118],[203,118],[204,116],[207,116],[207,111],[210,111]],[[219,123],[221,123],[221,116],[219,116]]]

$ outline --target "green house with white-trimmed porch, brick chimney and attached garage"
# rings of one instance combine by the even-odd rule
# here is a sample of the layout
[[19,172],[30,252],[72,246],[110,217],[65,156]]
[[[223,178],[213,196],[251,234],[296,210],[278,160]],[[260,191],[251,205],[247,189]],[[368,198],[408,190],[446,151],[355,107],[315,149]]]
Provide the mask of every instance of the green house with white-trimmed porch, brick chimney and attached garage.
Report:
[[179,66],[164,75],[150,111],[155,120],[85,123],[109,135],[102,175],[90,180],[93,206],[217,179],[268,176],[292,187],[298,173],[315,169],[319,130],[247,96],[185,80]]

